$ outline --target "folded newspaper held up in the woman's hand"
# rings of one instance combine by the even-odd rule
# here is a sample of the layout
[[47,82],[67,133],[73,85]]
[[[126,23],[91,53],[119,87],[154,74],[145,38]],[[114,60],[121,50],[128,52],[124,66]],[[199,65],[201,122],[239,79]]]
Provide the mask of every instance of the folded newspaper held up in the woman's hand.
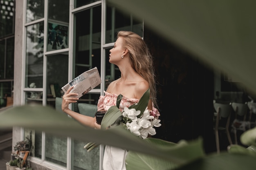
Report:
[[71,96],[71,97],[80,98],[86,93],[88,93],[90,90],[98,86],[99,84],[101,84],[101,77],[99,75],[99,71],[97,67],[94,67],[88,71],[85,71],[81,75],[77,76],[71,82],[63,86],[61,89],[63,90],[64,93],[66,93],[66,91],[71,86],[74,86],[74,88],[70,91],[70,93],[77,93],[78,96]]

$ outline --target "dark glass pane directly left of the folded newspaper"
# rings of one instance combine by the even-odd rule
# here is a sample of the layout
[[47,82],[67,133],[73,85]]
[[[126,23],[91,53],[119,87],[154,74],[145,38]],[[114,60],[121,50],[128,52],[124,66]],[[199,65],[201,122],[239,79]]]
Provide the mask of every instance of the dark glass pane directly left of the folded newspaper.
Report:
[[47,104],[55,107],[50,99],[63,95],[61,87],[68,82],[68,72],[67,53],[47,56]]

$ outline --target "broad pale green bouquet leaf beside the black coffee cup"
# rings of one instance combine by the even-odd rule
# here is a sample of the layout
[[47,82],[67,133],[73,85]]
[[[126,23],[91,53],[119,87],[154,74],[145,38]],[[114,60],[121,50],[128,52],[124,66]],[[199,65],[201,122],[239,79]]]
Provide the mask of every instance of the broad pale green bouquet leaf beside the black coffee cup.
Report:
[[106,130],[106,128],[114,124],[120,116],[122,116],[122,113],[119,108],[117,108],[117,106],[111,106],[101,121],[101,130]]

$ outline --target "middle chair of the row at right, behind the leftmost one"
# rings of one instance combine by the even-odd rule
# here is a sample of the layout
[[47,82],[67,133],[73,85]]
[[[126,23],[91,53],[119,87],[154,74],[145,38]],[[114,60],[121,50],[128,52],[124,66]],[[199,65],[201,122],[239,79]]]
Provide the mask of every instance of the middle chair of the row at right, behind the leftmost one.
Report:
[[242,103],[235,103],[231,104],[233,110],[235,111],[235,119],[232,123],[232,129],[235,135],[235,143],[237,143],[237,130],[246,130],[246,127],[249,125],[248,121],[246,121],[246,114],[247,114],[247,104]]

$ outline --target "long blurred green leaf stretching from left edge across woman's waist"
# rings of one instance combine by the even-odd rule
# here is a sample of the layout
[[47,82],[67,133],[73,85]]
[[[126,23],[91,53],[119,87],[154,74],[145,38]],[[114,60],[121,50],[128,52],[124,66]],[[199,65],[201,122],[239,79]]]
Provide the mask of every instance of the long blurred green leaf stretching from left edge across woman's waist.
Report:
[[[154,155],[177,164],[186,163],[191,161],[191,159],[202,157],[202,155],[189,157],[188,155],[191,152],[191,148],[188,148],[186,152],[180,156],[173,154],[172,148],[150,144],[132,135],[132,133],[124,127],[120,128],[122,126],[111,127],[109,130],[96,130],[83,126],[78,121],[48,106],[16,106],[1,112],[0,129],[12,128],[13,126],[44,131],[56,136],[72,137],[81,141],[92,141],[97,144],[124,148],[147,155]],[[192,142],[191,147],[194,145],[196,145],[196,149],[198,149],[198,145],[200,145],[200,150],[203,152],[202,140],[198,140],[196,144]]]

